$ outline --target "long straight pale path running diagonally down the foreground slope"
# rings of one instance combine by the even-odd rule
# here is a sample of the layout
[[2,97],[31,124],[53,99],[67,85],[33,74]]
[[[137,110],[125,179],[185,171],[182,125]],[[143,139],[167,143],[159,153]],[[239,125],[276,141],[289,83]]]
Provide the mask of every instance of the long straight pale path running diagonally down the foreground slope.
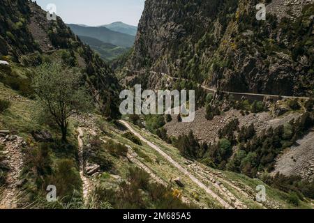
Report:
[[170,157],[169,155],[167,155],[165,152],[163,152],[158,146],[156,146],[155,144],[152,144],[150,141],[148,141],[147,139],[144,139],[144,137],[142,137],[142,135],[140,135],[139,133],[137,133],[126,121],[120,120],[120,123],[122,123],[123,125],[126,126],[126,128],[128,128],[128,130],[130,130],[130,132],[132,132],[133,134],[135,134],[135,136],[139,137],[142,141],[144,141],[144,143],[146,143],[147,145],[149,145],[151,148],[154,148],[155,151],[157,151],[160,155],[162,155],[168,162],[170,162],[174,167],[176,167],[177,169],[179,169],[179,171],[181,171],[184,175],[188,176],[188,178],[190,178],[190,180],[192,180],[194,183],[196,183],[200,188],[202,188],[205,192],[207,192],[207,194],[211,195],[211,197],[213,197],[214,199],[216,199],[224,208],[227,209],[232,209],[232,206],[229,205],[229,203],[227,203],[226,201],[224,201],[223,199],[221,199],[217,194],[215,194],[212,190],[210,190],[206,185],[204,185],[204,183],[200,182],[200,180],[198,180],[197,178],[195,178],[195,176],[193,176],[192,174],[190,174],[190,172],[188,172],[186,169],[184,169],[184,167],[181,167],[181,165],[177,162],[175,162],[172,157]]

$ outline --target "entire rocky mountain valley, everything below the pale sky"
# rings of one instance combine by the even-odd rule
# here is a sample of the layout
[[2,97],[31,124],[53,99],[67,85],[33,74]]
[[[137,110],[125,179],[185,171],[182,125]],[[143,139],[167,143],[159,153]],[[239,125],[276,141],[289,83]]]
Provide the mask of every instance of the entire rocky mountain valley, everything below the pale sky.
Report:
[[[257,3],[87,26],[3,0],[0,209],[313,209],[314,3],[262,1],[265,21]],[[135,85],[193,91],[195,118],[122,114]]]

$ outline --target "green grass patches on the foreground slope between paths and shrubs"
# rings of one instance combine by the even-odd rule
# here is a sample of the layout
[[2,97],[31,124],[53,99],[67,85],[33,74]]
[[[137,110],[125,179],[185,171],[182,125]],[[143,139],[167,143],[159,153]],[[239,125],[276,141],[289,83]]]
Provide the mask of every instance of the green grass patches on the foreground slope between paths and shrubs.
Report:
[[[23,75],[22,68],[15,66],[13,70],[20,72],[20,75]],[[30,132],[36,128],[48,128],[47,126],[40,126],[36,123],[33,117],[33,100],[28,98],[24,98],[20,96],[17,91],[13,91],[12,89],[4,86],[0,83],[0,98],[10,100],[12,103],[10,108],[0,114],[0,129],[7,129],[13,130],[15,134],[20,135],[24,138],[31,138]],[[96,116],[96,115],[95,115]],[[138,155],[138,159],[147,165],[151,171],[153,171],[159,178],[163,179],[163,181],[169,183],[170,179],[177,178],[178,176],[181,177],[184,185],[186,185],[183,196],[188,199],[188,201],[192,201],[197,203],[199,206],[204,206],[204,208],[221,208],[217,205],[217,202],[212,198],[209,197],[203,190],[201,190],[195,183],[193,183],[189,178],[182,176],[182,174],[171,164],[169,164],[163,157],[161,157],[156,151],[152,148],[144,144],[143,146],[138,146],[133,144],[133,142],[129,141],[128,139],[122,137],[122,132],[117,128],[117,126],[112,125],[110,123],[106,123],[103,118],[100,116],[96,116],[98,119],[97,125],[102,125],[103,131],[101,131],[101,137],[105,140],[107,139],[114,139],[115,141],[119,141],[122,144],[127,144],[131,146]],[[73,144],[76,144],[76,137],[75,137],[75,128],[80,126],[80,120],[73,119],[70,125],[70,141]],[[141,132],[143,137],[149,139],[151,142],[159,146],[163,149],[167,154],[169,154],[174,160],[179,162],[183,167],[188,169],[188,164],[186,164],[186,160],[181,157],[177,148],[174,148],[168,144],[165,144],[164,141],[161,141],[156,137],[154,134],[151,134],[147,131],[143,131],[136,126],[133,126],[138,132]],[[59,133],[57,130],[53,130],[48,128],[54,137],[59,137]],[[87,136],[86,136],[87,137]],[[85,138],[87,140],[87,138]],[[57,162],[59,154],[55,153],[52,155],[54,162]],[[125,158],[117,158],[114,156],[110,156],[112,162],[114,162],[114,174],[121,176],[121,178],[126,179],[126,174],[128,173],[128,168],[133,167],[134,164],[131,164]],[[248,178],[241,174],[235,174],[228,171],[216,171],[214,169],[210,169],[209,167],[203,167],[204,169],[208,169],[211,172],[218,173],[221,172],[224,180],[232,181],[232,183],[236,183],[239,187],[244,188],[246,187],[246,191],[249,190],[251,194],[254,196],[255,187],[257,185],[264,185],[258,179]],[[99,180],[100,183],[105,185],[106,187],[117,187],[118,182],[116,179],[112,178],[110,174],[103,173],[98,176],[95,180]],[[173,185],[173,187],[176,187]],[[234,190],[230,185],[225,184],[232,194],[238,197],[242,202],[246,203],[249,208],[262,208],[259,204],[257,204],[253,199],[248,199],[246,197],[241,196],[241,194]],[[295,208],[294,206],[287,203],[287,194],[278,191],[274,188],[267,187],[267,198],[270,199],[272,202],[276,203],[281,208]],[[179,188],[178,188],[179,189]],[[179,189],[180,190],[180,189]],[[214,187],[211,187],[211,190],[216,192]],[[311,208],[311,205],[307,202],[301,201],[300,206],[298,208]]]

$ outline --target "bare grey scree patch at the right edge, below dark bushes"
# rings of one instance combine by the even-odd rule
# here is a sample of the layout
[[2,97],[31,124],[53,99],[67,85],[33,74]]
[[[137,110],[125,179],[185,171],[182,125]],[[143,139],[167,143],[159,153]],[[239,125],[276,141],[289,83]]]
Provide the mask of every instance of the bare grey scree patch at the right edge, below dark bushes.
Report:
[[273,174],[280,172],[286,176],[298,175],[314,180],[314,130],[297,141],[297,144],[278,158]]

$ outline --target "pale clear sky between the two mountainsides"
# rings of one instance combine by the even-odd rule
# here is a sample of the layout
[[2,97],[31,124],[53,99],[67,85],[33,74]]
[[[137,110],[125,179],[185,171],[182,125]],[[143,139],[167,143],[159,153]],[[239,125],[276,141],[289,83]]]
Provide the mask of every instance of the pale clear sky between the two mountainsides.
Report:
[[57,6],[57,15],[66,23],[98,26],[124,22],[137,26],[144,0],[36,0],[47,10],[49,3]]

